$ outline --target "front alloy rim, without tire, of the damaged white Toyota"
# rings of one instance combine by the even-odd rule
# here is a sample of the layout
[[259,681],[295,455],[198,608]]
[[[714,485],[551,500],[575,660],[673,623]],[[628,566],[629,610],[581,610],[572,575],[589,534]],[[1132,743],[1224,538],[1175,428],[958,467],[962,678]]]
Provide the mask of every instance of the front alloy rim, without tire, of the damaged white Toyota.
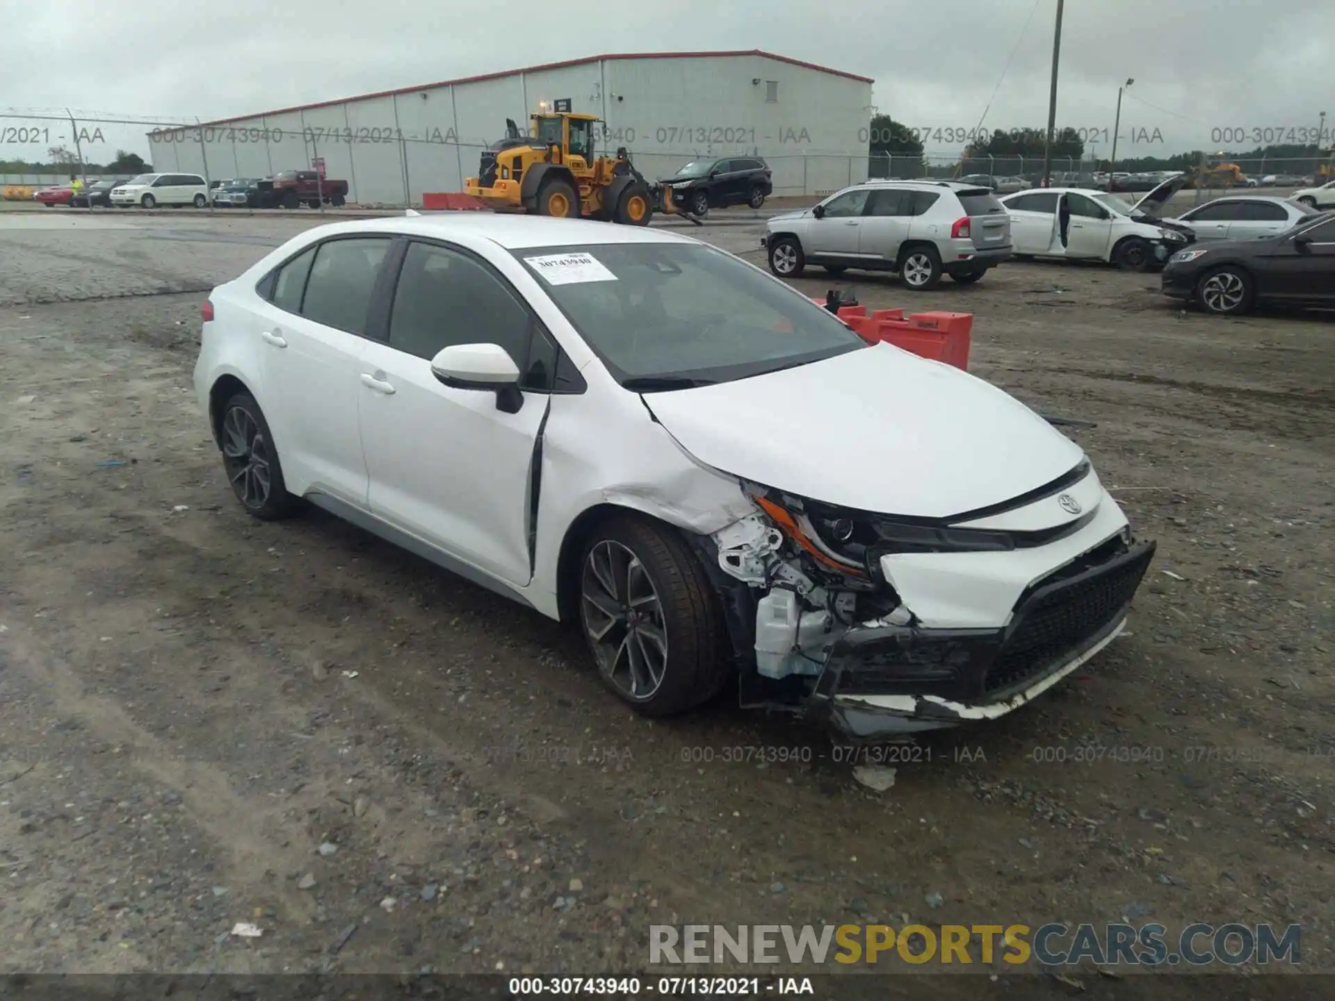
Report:
[[651,698],[668,669],[668,630],[643,563],[626,546],[603,539],[589,550],[579,586],[598,667],[631,701]]

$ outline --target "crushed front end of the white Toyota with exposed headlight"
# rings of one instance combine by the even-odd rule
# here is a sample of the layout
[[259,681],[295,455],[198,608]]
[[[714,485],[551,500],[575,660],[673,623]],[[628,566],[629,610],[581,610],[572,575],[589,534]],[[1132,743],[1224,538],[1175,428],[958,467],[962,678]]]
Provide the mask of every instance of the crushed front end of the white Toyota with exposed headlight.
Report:
[[983,511],[901,518],[748,484],[701,539],[742,663],[742,702],[845,738],[992,719],[1124,627],[1153,558],[1088,462]]

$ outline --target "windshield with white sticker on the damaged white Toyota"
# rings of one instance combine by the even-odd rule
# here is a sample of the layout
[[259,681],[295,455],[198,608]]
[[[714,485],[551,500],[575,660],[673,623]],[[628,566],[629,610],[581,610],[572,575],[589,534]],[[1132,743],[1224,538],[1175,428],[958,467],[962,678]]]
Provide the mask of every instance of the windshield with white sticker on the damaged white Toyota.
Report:
[[745,379],[868,346],[805,296],[713,247],[611,243],[514,255],[626,388]]

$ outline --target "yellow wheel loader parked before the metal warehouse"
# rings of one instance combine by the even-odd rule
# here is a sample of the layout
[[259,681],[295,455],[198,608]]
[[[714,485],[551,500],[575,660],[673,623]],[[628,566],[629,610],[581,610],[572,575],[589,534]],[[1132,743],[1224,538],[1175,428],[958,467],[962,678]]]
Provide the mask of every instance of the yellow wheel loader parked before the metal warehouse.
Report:
[[[570,101],[555,112],[530,116],[527,136],[506,119],[506,136],[483,151],[478,176],[465,194],[498,212],[599,219],[649,226],[653,214],[674,212],[672,188],[650,184],[625,147],[615,156],[594,153],[594,115],[577,115]],[[700,224],[698,219],[688,216]]]

